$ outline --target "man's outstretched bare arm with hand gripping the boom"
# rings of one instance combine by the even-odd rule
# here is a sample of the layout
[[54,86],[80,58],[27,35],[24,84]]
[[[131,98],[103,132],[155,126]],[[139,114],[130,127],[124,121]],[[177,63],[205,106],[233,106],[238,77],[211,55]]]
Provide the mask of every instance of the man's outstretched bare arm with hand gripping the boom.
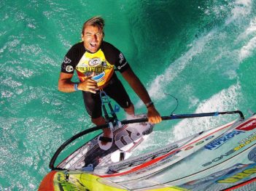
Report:
[[[122,75],[145,105],[151,102],[150,95],[147,93],[147,90],[136,76],[136,74],[133,73],[131,68],[125,70]],[[147,118],[149,118],[150,123],[159,123],[162,121],[162,118],[160,117],[158,111],[155,109],[154,105],[147,107]]]

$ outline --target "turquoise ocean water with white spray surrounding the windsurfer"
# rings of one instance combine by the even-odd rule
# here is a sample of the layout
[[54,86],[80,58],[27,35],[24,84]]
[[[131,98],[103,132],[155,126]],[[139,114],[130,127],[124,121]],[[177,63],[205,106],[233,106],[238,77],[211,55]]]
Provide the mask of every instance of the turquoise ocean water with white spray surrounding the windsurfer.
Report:
[[[66,51],[95,15],[161,115],[177,106],[171,96],[174,113],[256,112],[255,0],[1,0],[0,9],[0,190],[37,190],[55,150],[93,126],[81,93],[58,92],[57,84]],[[145,113],[123,84],[136,113]],[[164,121],[139,152],[234,118]]]

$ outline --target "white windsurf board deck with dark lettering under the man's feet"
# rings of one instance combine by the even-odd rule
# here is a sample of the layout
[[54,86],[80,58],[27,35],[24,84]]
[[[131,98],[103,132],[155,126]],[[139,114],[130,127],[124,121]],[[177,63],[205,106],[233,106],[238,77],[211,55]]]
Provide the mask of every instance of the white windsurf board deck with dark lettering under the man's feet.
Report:
[[[136,118],[144,118],[145,115],[136,115]],[[63,160],[57,167],[66,169],[80,169],[85,166],[105,166],[127,159],[144,139],[152,132],[153,125],[148,122],[126,124],[122,127],[115,126],[113,129],[113,144],[109,150],[101,150],[98,145],[98,136],[94,137],[85,145],[79,147],[68,158]]]

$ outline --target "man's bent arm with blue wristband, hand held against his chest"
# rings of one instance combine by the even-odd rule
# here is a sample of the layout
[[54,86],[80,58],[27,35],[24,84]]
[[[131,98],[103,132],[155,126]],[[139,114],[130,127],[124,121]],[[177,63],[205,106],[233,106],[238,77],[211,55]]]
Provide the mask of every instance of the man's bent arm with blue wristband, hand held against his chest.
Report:
[[71,81],[71,78],[73,77],[73,73],[60,73],[60,78],[58,79],[58,90],[61,92],[76,92],[74,89],[74,85],[77,84],[77,89],[85,91],[85,92],[91,92],[93,94],[96,93],[96,90],[98,89],[96,81],[93,81],[91,79],[92,76],[89,76],[88,78],[85,78],[85,81],[74,83]]

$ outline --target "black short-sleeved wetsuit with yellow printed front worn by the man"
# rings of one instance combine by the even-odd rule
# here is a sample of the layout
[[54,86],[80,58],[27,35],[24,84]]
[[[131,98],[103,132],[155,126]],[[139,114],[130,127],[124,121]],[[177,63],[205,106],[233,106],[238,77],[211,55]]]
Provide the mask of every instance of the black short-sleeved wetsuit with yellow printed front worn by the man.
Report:
[[[94,72],[93,79],[97,82],[98,88],[103,89],[121,107],[128,108],[131,105],[131,99],[128,97],[123,84],[117,78],[114,67],[120,73],[130,68],[123,53],[115,46],[102,41],[100,49],[95,53],[90,53],[85,49],[83,42],[80,42],[74,44],[67,52],[61,65],[61,72],[74,73],[74,70],[76,70],[80,81],[85,81],[85,77]],[[90,117],[100,117],[102,112],[99,92],[96,94],[82,92],[82,95]]]

